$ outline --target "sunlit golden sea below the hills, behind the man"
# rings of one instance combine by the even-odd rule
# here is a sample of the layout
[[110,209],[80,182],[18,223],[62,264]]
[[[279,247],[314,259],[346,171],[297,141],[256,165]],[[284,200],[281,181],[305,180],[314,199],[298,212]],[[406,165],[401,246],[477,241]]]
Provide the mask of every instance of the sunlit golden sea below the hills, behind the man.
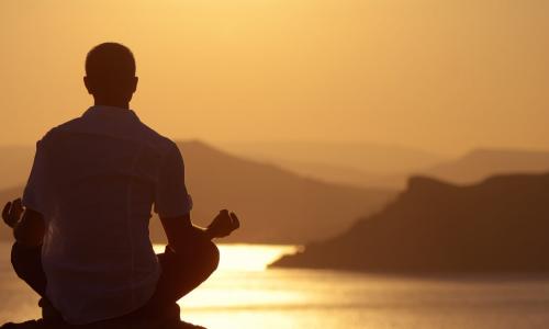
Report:
[[[549,328],[549,279],[269,269],[300,247],[220,249],[220,269],[179,300],[184,321],[210,329]],[[10,245],[0,243],[0,324],[37,318],[38,298],[13,274],[9,254]]]

